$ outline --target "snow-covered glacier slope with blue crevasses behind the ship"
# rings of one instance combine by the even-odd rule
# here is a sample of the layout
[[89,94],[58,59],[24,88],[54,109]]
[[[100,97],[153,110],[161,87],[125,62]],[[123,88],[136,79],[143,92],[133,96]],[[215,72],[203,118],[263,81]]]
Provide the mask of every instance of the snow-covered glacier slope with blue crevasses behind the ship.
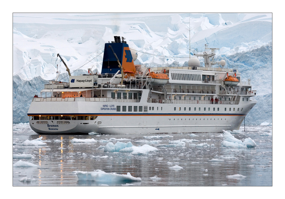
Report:
[[205,43],[220,48],[217,60],[237,67],[241,81],[251,79],[257,90],[246,122],[272,122],[271,13],[14,13],[13,122],[28,122],[32,97],[56,78],[57,65],[61,81],[68,81],[58,53],[72,75],[101,71],[104,44],[113,36],[125,37],[138,51],[135,64],[147,66],[185,65],[189,46],[191,53]]

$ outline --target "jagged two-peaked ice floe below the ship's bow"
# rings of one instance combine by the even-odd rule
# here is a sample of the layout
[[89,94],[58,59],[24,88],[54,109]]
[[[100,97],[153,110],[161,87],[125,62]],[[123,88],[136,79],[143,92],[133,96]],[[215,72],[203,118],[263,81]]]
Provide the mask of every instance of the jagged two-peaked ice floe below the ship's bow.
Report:
[[256,143],[251,138],[246,138],[245,141],[241,141],[235,138],[230,132],[223,130],[223,141],[221,145],[223,147],[229,148],[246,148],[246,147],[255,147]]

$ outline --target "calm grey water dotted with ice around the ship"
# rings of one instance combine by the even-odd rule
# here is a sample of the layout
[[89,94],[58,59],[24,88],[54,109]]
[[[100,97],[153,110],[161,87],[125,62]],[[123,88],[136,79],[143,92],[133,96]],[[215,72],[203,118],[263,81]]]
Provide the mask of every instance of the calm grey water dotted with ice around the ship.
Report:
[[[241,131],[244,127],[241,127]],[[233,134],[243,140],[252,138],[255,148],[225,148],[220,143],[220,133],[174,134],[135,134],[135,135],[38,135],[29,124],[13,124],[13,154],[32,154],[33,159],[13,159],[13,164],[22,160],[38,165],[37,167],[13,167],[13,186],[272,186],[272,136],[260,134],[272,133],[272,126],[247,125],[244,134]],[[143,136],[171,135],[164,138],[144,138]],[[25,146],[25,140],[34,140],[42,136],[47,145]],[[97,142],[74,143],[73,138],[94,138]],[[180,147],[156,147],[159,150],[147,155],[130,153],[104,152],[99,146],[105,146],[110,138],[128,138],[135,146],[141,140],[159,140],[159,144],[170,141],[195,139],[198,142],[185,142]],[[116,141],[112,141],[114,144]],[[128,142],[128,141],[121,141]],[[215,144],[215,147],[193,147],[194,144]],[[155,146],[158,144],[148,144]],[[44,150],[44,149],[50,150]],[[63,148],[63,149],[60,149]],[[215,156],[235,157],[223,162],[209,162]],[[108,158],[91,158],[108,156]],[[171,164],[171,163],[172,164]],[[169,167],[179,165],[183,169]],[[106,173],[127,174],[142,179],[141,182],[93,182],[79,181],[73,171],[93,171],[100,169]],[[207,171],[206,171],[207,169]],[[228,178],[231,175],[243,175],[245,178]],[[157,176],[160,180],[152,180]],[[21,178],[32,178],[31,182],[20,182]]]

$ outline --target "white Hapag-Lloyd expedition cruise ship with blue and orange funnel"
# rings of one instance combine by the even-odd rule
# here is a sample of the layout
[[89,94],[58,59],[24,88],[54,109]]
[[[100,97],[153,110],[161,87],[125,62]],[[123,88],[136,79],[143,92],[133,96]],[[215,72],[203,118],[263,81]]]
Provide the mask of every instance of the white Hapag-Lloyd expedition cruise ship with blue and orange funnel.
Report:
[[[134,65],[125,38],[106,43],[101,74],[49,81],[28,110],[38,134],[222,132],[238,130],[257,103],[250,79],[215,63],[215,48],[196,52],[188,67]],[[218,64],[218,67],[212,65]],[[57,79],[56,79],[57,80]],[[47,97],[51,96],[51,97]]]

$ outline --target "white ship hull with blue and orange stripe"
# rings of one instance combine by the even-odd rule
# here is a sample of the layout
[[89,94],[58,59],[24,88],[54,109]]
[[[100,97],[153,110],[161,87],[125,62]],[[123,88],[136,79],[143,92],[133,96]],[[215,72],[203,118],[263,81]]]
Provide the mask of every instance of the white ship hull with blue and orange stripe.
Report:
[[[61,103],[61,106],[58,104]],[[200,102],[201,103],[201,102]],[[48,107],[57,107],[63,115],[96,115],[95,120],[30,120],[31,128],[39,134],[71,134],[97,132],[100,134],[192,133],[238,130],[255,102],[249,104],[176,104],[135,102],[32,102],[32,111],[41,107],[41,115],[55,115]],[[147,106],[147,112],[117,112],[101,110],[105,105]],[[179,106],[181,110],[179,111]],[[64,112],[72,107],[70,112]],[[149,110],[154,107],[154,110]],[[157,108],[158,107],[158,108]],[[174,107],[176,111],[174,112]],[[186,110],[184,111],[184,107]],[[191,107],[192,111],[189,111]],[[207,111],[204,111],[204,107]],[[219,108],[219,111],[213,112]],[[196,111],[194,109],[196,108]],[[200,111],[198,111],[200,108]],[[211,111],[208,111],[210,108]],[[225,111],[226,110],[228,111]],[[229,111],[231,108],[231,111]],[[235,108],[235,111],[233,111]],[[239,111],[238,111],[239,108]],[[243,111],[241,109],[243,108]],[[110,108],[109,108],[110,109]],[[157,110],[158,109],[158,110]],[[100,110],[100,111],[98,111]],[[40,113],[37,113],[40,114]],[[80,116],[78,116],[79,118]],[[65,122],[64,124],[62,124]]]

